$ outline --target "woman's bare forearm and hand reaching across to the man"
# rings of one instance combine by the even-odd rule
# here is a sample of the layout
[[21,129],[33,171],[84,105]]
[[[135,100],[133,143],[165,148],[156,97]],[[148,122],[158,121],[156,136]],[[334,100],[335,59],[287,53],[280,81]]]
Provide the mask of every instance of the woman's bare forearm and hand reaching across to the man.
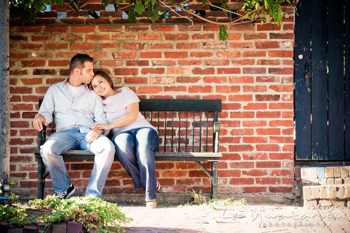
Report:
[[135,103],[129,104],[126,107],[126,114],[121,118],[119,118],[118,120],[110,124],[95,123],[92,125],[92,129],[111,130],[111,129],[127,126],[133,123],[137,119],[138,114],[139,114],[139,102],[135,102]]

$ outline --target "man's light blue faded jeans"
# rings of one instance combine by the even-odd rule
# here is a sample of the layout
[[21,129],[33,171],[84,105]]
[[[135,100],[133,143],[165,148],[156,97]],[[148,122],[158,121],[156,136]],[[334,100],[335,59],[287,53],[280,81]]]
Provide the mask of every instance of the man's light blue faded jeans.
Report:
[[114,161],[115,147],[105,136],[100,135],[94,142],[85,140],[87,133],[80,133],[79,128],[53,133],[40,148],[41,157],[50,171],[51,181],[56,192],[64,192],[71,181],[66,165],[61,156],[67,150],[88,150],[95,154],[94,166],[85,194],[90,197],[102,197],[109,169]]

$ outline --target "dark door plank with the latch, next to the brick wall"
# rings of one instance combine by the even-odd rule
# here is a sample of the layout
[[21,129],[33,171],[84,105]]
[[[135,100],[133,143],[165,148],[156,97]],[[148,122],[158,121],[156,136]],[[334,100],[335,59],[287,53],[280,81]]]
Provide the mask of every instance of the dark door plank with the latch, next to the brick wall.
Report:
[[299,1],[295,28],[296,159],[311,159],[311,83],[305,83],[304,65],[310,54],[310,1]]

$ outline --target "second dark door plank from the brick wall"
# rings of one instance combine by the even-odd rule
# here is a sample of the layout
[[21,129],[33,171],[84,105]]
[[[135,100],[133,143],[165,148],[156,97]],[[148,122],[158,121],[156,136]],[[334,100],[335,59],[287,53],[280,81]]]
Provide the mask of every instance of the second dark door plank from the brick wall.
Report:
[[312,159],[327,159],[327,1],[311,1]]

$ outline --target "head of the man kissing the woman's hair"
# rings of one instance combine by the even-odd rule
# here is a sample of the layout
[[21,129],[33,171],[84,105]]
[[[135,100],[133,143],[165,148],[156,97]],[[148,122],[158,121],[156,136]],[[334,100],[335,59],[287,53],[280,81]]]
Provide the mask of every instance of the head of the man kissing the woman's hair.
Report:
[[90,83],[93,78],[93,58],[88,54],[78,53],[70,59],[70,77],[81,83]]

